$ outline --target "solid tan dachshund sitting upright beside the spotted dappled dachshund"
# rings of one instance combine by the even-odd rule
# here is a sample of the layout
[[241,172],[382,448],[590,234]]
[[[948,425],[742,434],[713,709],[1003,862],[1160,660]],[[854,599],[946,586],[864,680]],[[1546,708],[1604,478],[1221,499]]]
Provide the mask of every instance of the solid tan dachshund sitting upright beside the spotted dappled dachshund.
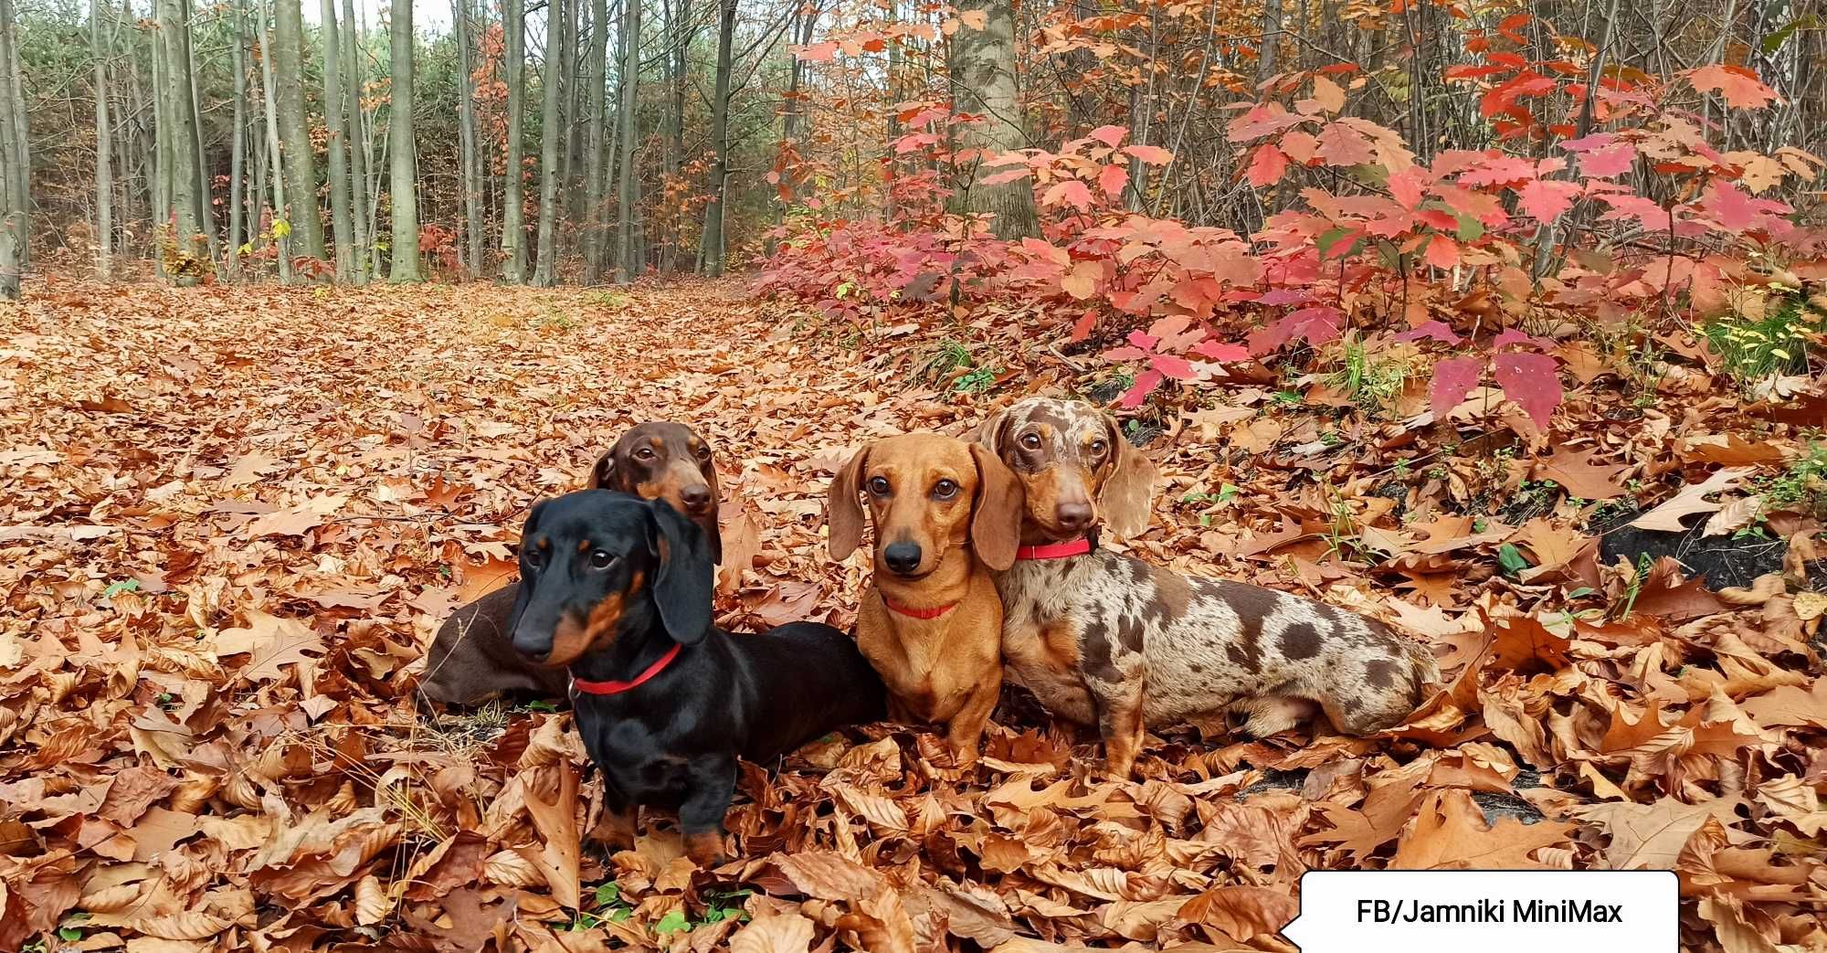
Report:
[[945,723],[959,763],[977,759],[1003,688],[1003,602],[990,570],[1014,564],[1021,489],[985,445],[910,433],[861,449],[831,480],[831,557],[875,524],[875,584],[857,646],[888,685],[895,721]]

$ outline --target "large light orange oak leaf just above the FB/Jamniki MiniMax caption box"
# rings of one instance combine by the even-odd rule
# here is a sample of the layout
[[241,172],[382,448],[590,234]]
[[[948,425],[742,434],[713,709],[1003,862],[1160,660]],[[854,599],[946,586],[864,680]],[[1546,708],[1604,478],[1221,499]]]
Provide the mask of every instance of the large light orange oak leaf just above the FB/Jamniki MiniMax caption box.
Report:
[[1515,818],[1487,825],[1469,791],[1436,791],[1421,801],[1414,827],[1396,843],[1389,865],[1398,871],[1546,869],[1547,864],[1529,854],[1568,843],[1575,827]]

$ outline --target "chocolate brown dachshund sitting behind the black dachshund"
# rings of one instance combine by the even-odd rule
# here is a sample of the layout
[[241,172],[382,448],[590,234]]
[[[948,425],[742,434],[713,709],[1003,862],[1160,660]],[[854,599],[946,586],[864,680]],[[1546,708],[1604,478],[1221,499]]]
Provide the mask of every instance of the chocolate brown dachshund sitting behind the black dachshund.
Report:
[[[713,456],[711,444],[683,424],[636,424],[590,467],[590,487],[667,500],[703,529],[711,559],[722,562]],[[428,699],[475,705],[501,692],[565,694],[565,670],[526,665],[508,644],[508,615],[519,593],[519,584],[510,582],[444,619],[426,652],[426,677],[418,685]]]

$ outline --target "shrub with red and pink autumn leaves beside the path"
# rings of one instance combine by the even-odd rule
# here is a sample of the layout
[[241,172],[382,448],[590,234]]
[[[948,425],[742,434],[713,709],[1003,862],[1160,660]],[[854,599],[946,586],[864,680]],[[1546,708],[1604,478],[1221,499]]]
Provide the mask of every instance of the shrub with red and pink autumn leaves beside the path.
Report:
[[[1526,47],[1527,18],[1515,20],[1494,38]],[[1478,97],[1500,146],[1432,155],[1346,115],[1348,88],[1363,84],[1354,71],[1279,77],[1230,122],[1248,155],[1244,183],[1283,204],[1250,236],[1138,210],[1131,170],[1173,153],[1125,144],[1122,126],[1058,152],[983,155],[948,150],[946,124],[972,117],[915,104],[895,152],[952,177],[897,181],[921,201],[897,201],[882,219],[789,223],[758,288],[850,319],[930,301],[1043,299],[1072,318],[1071,341],[1127,334],[1104,352],[1133,371],[1125,407],[1169,380],[1215,380],[1224,363],[1345,334],[1427,341],[1436,414],[1489,374],[1542,427],[1562,402],[1555,340],[1703,319],[1827,278],[1827,234],[1763,197],[1816,181],[1822,161],[1796,148],[1719,150],[1701,115],[1670,104],[1683,84],[1734,110],[1769,104],[1776,93],[1747,69],[1703,66],[1674,80],[1630,71],[1593,88],[1571,62],[1489,51],[1449,79]],[[1032,181],[1041,237],[1005,243],[981,217],[935,212],[972,181],[1016,179]]]

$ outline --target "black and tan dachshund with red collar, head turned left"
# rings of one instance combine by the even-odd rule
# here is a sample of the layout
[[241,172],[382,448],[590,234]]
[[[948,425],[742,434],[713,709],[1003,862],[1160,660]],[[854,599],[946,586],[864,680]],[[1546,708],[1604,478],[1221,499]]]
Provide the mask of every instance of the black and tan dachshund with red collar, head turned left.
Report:
[[767,765],[886,710],[848,635],[818,623],[731,635],[711,621],[711,590],[703,533],[665,500],[581,489],[535,506],[521,531],[513,650],[570,672],[603,774],[592,836],[630,847],[641,805],[678,809],[700,865],[723,856],[736,758]]

